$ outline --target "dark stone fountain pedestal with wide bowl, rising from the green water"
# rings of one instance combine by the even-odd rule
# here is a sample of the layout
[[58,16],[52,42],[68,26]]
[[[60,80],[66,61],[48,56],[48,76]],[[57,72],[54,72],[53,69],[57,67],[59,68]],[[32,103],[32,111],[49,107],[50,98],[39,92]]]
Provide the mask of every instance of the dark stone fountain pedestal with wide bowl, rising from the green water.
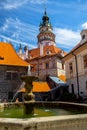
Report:
[[34,94],[32,93],[33,84],[32,82],[38,80],[35,76],[21,76],[21,79],[25,82],[25,95],[24,95],[24,111],[25,114],[34,114]]

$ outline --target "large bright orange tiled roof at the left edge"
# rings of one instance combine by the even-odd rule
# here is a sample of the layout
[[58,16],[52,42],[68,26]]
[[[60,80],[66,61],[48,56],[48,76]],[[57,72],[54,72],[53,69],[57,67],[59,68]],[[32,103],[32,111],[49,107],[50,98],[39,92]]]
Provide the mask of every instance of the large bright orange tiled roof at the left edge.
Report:
[[0,42],[0,65],[28,66],[14,50],[12,44]]

